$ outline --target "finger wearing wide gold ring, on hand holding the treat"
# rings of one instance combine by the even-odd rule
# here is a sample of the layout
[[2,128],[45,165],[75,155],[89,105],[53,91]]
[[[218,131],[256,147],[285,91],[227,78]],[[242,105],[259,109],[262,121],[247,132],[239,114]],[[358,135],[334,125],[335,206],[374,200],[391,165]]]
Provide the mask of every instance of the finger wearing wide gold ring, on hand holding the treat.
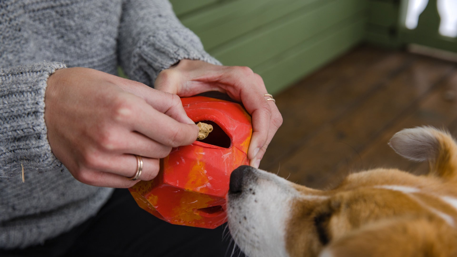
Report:
[[[138,179],[151,180],[159,173],[159,159],[143,157],[143,169]],[[133,177],[138,169],[135,155],[99,155],[91,160],[86,160],[85,169],[111,173],[122,177]]]

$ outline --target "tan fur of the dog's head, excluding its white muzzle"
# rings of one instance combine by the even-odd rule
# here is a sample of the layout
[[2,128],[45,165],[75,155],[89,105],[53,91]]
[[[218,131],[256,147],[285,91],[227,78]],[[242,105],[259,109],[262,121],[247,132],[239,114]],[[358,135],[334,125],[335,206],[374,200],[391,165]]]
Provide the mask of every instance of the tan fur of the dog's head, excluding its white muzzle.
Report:
[[[443,200],[457,199],[456,143],[429,127],[405,133],[394,136],[391,145],[411,159],[428,156],[430,174],[374,169],[351,174],[329,191],[293,186],[306,197],[293,201],[287,222],[291,257],[314,257],[322,250],[334,257],[457,256],[457,209]],[[414,133],[425,140],[421,151],[397,147],[402,142],[414,147],[414,140],[402,141],[414,139]]]

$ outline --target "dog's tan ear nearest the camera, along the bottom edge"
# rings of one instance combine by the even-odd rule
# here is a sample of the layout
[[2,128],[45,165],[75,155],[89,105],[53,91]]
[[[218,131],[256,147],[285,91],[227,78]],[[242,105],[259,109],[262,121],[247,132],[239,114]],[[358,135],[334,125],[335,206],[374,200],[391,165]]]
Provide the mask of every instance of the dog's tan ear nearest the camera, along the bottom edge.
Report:
[[332,241],[319,257],[455,257],[456,232],[441,220],[391,220]]

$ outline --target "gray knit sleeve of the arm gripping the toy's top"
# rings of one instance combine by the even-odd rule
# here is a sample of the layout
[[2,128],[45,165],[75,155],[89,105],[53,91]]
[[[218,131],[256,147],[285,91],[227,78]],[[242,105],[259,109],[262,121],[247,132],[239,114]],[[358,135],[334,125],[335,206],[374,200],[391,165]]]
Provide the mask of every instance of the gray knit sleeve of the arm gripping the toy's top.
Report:
[[181,59],[220,64],[184,27],[168,0],[124,0],[119,28],[120,64],[132,80],[153,86],[160,71]]

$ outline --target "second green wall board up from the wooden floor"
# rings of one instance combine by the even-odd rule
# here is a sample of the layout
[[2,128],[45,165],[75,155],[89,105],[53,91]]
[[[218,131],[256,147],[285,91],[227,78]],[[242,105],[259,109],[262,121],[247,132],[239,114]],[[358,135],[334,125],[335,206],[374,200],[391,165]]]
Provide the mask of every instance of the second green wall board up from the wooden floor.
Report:
[[239,37],[225,48],[210,51],[210,53],[223,64],[254,68],[349,17],[356,16],[363,20],[364,2],[364,0],[330,1],[312,11],[287,16],[271,26]]

